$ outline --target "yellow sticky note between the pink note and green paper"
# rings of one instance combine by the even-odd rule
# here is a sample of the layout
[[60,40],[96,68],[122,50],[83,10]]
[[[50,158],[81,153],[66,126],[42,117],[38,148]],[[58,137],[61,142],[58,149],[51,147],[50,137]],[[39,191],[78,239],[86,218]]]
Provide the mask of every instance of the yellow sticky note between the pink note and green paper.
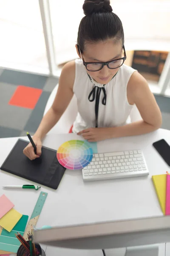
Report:
[[13,227],[17,224],[20,218],[23,215],[20,212],[17,212],[15,209],[11,209],[6,213],[2,218],[0,218],[0,226],[6,229],[8,232],[11,232]]

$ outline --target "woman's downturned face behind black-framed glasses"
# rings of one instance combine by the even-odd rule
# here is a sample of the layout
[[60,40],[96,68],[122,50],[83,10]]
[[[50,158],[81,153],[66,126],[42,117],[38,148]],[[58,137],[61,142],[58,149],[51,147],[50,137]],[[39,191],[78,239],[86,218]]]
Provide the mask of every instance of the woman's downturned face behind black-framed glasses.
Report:
[[[107,62],[118,58],[122,58],[122,42],[114,43],[113,39],[99,41],[96,43],[86,43],[85,49],[82,53],[85,62]],[[81,56],[80,56],[81,58]],[[117,73],[119,67],[116,69],[109,69],[106,65],[99,71],[87,73],[99,84],[107,84],[113,76]]]

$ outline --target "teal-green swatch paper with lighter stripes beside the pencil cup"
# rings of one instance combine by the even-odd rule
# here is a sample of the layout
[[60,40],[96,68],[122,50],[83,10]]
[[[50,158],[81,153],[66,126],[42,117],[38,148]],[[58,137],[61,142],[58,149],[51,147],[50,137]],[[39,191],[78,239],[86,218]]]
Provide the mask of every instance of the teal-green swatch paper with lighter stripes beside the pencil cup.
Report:
[[17,253],[20,241],[16,238],[15,234],[19,232],[21,236],[24,235],[27,221],[28,215],[23,215],[11,232],[2,230],[0,235],[0,254],[6,254],[7,256],[8,253]]

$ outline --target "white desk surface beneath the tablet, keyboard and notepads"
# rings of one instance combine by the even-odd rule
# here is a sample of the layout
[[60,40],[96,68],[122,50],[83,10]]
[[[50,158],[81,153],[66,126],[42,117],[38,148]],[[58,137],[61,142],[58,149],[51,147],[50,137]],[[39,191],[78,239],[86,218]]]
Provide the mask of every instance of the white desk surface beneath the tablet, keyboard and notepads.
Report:
[[[27,140],[26,137],[23,138]],[[37,227],[163,216],[151,180],[152,175],[169,171],[167,164],[164,163],[152,146],[153,142],[162,138],[170,144],[170,131],[159,129],[146,135],[99,142],[99,153],[141,148],[150,175],[148,177],[84,183],[81,171],[66,170],[57,190],[41,186],[41,191],[48,192],[48,197]],[[0,139],[0,165],[6,159],[17,139]],[[81,139],[81,137],[77,134],[49,134],[45,137],[43,145],[57,150],[61,143],[71,139]],[[15,209],[22,214],[31,216],[40,191],[2,189],[3,185],[23,185],[24,183],[31,182],[0,171],[0,195],[5,193],[14,203]],[[169,222],[170,217],[166,217],[165,221]],[[146,236],[146,234],[144,233],[143,236]],[[170,236],[167,237],[167,241],[170,241]],[[160,237],[160,242],[167,241],[162,241]],[[134,244],[135,241],[132,245]],[[130,241],[128,245],[130,245]],[[47,249],[48,255],[51,255],[51,253],[48,254]]]

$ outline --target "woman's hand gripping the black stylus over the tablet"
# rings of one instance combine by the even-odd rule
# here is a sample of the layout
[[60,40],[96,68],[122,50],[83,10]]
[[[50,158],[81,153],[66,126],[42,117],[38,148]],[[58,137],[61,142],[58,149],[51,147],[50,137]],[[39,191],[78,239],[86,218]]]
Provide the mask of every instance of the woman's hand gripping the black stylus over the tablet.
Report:
[[42,148],[42,142],[40,138],[38,137],[32,137],[36,147],[37,147],[37,154],[34,153],[34,148],[31,143],[29,143],[26,148],[24,148],[23,153],[28,157],[30,160],[34,160],[41,155],[41,148]]

